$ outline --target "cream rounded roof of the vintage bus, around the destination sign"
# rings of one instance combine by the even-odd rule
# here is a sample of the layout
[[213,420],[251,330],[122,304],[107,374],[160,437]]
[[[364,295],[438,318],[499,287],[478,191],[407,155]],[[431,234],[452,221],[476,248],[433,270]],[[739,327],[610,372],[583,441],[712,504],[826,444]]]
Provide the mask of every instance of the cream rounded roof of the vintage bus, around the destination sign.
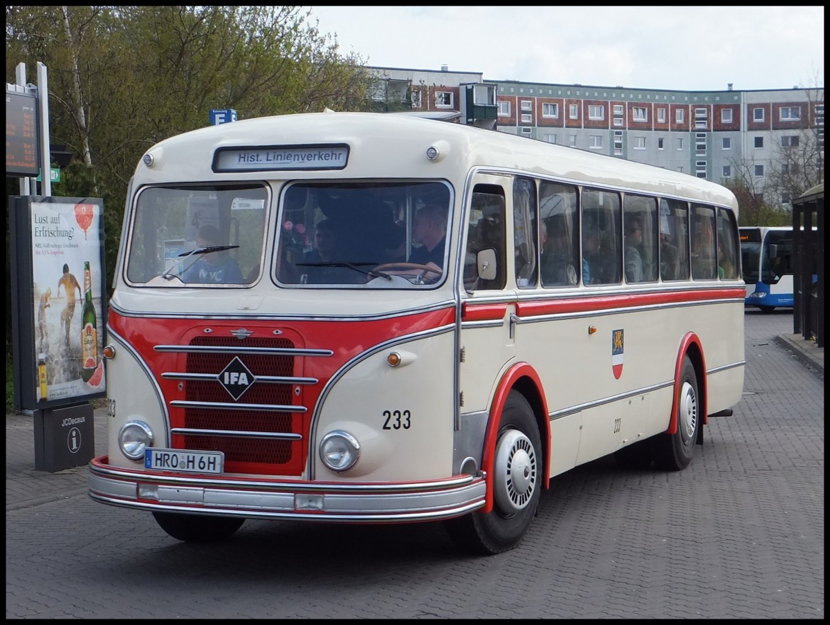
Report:
[[[349,145],[345,168],[214,173],[219,148],[262,146]],[[436,167],[425,156],[431,145],[442,149],[449,168]],[[251,178],[450,178],[471,168],[535,173],[574,183],[609,185],[675,198],[697,199],[732,208],[735,195],[720,184],[687,173],[635,163],[605,154],[548,144],[497,130],[388,113],[304,113],[276,115],[192,130],[164,139],[149,149],[152,166],[139,162],[138,183],[169,183]],[[393,154],[389,159],[385,154]],[[203,156],[203,158],[199,158]],[[458,183],[457,179],[454,182]]]

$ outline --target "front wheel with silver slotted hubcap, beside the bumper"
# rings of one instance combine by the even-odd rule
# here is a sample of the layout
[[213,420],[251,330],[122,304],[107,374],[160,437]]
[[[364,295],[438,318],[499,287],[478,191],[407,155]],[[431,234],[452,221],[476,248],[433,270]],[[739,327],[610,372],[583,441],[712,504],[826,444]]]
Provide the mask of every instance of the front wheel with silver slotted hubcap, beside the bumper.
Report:
[[493,461],[493,510],[447,520],[450,538],[472,554],[500,554],[527,534],[539,506],[542,442],[533,409],[510,392],[501,413]]

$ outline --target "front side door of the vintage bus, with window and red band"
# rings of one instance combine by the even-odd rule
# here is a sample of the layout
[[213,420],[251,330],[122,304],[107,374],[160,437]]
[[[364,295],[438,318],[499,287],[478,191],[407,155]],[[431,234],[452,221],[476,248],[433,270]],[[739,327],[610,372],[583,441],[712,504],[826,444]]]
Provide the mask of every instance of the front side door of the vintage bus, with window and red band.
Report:
[[461,430],[484,432],[496,383],[515,357],[515,295],[505,291],[509,185],[504,176],[477,174],[466,198],[458,364]]

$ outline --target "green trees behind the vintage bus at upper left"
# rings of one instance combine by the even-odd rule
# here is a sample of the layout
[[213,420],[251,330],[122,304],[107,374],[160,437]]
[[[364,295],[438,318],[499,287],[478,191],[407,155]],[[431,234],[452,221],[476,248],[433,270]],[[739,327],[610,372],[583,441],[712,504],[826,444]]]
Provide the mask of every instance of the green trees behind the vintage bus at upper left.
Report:
[[[129,178],[152,145],[206,126],[211,109],[240,119],[369,110],[364,60],[341,54],[309,16],[303,7],[6,8],[7,81],[19,63],[29,82],[38,61],[46,66],[50,142],[73,155],[53,195],[104,199],[107,284]],[[6,187],[17,195],[19,180]],[[8,285],[8,257],[6,266]],[[11,336],[7,317],[7,359]]]

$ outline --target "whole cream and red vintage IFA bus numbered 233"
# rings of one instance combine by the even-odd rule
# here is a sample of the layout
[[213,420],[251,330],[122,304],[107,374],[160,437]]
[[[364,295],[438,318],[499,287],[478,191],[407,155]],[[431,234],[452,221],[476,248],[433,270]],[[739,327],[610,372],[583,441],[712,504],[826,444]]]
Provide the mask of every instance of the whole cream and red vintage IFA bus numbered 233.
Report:
[[130,183],[90,496],[179,540],[441,520],[511,549],[552,477],[683,469],[740,401],[737,210],[687,174],[407,115],[164,140]]

